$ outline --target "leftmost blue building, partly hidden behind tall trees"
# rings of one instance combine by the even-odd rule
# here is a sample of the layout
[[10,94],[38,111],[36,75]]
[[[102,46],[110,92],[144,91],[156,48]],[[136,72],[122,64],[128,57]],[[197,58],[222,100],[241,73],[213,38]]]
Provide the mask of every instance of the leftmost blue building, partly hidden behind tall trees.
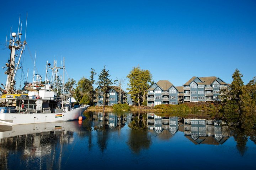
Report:
[[[121,101],[119,101],[119,95],[121,95]],[[118,103],[126,103],[126,101],[126,95],[122,89],[121,94],[119,94],[118,86],[109,86],[106,93],[105,105],[113,106],[114,104]],[[103,106],[103,91],[101,90],[100,86],[96,88],[96,94],[94,95],[93,102],[95,106]]]

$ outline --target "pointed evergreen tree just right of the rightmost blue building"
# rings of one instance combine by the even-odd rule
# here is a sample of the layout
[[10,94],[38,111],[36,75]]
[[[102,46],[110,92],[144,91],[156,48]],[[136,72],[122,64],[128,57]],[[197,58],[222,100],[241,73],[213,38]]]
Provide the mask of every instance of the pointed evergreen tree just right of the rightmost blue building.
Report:
[[231,94],[233,97],[239,100],[240,95],[242,94],[242,86],[244,86],[244,81],[242,81],[243,75],[239,72],[238,69],[232,75],[233,81],[231,83]]

